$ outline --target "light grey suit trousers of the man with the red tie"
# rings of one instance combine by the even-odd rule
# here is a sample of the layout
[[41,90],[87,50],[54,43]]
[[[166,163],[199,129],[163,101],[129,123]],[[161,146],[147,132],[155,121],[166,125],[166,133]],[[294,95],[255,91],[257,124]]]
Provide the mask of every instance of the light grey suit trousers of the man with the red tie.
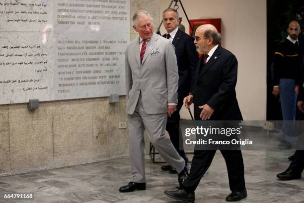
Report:
[[185,167],[184,159],[178,155],[170,139],[165,135],[167,113],[147,114],[140,94],[134,113],[128,114],[131,181],[145,183],[145,140],[144,131],[159,155],[178,173]]

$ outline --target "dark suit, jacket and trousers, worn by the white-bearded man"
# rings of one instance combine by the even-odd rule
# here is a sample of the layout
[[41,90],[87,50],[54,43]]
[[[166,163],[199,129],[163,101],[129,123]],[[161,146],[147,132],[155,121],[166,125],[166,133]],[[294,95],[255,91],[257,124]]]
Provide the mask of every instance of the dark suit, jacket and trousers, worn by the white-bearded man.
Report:
[[[228,50],[219,46],[204,65],[201,57],[195,74],[193,95],[195,120],[201,120],[202,109],[208,104],[215,111],[210,120],[242,120],[235,94],[237,60]],[[245,189],[244,165],[240,150],[221,150],[225,159],[229,186],[232,192]],[[216,150],[195,150],[190,175],[183,183],[187,192],[195,191],[210,167]]]

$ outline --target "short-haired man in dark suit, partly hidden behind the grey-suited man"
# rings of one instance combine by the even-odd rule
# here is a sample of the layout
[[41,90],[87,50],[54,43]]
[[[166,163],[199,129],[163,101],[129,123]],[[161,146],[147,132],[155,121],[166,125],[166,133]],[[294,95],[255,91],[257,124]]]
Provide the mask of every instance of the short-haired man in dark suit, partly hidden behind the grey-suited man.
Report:
[[[166,130],[176,151],[188,162],[188,158],[182,146],[182,137],[179,136],[179,111],[183,105],[183,98],[193,90],[194,74],[198,63],[193,38],[178,29],[179,15],[175,9],[167,8],[162,13],[163,25],[167,31],[163,37],[169,39],[175,47],[178,66],[178,103],[176,111],[167,119]],[[161,170],[177,173],[170,165],[162,166]]]

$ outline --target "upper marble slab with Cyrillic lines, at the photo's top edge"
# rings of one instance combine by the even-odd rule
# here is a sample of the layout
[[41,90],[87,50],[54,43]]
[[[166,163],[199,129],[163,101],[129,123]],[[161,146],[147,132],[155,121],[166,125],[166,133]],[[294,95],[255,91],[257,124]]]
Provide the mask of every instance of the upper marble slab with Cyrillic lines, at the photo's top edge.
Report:
[[54,26],[57,32],[111,32],[129,30],[130,0],[55,0]]

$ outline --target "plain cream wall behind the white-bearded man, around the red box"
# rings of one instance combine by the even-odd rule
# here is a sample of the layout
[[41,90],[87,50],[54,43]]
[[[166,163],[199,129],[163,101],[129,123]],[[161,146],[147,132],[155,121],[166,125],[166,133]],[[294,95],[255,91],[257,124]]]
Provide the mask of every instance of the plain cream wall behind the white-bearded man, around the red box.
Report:
[[[170,2],[160,1],[160,15]],[[222,19],[222,46],[238,60],[236,96],[243,118],[265,120],[266,0],[182,0],[182,3],[189,19]],[[178,12],[188,32],[189,25],[181,6]],[[163,26],[160,31],[165,33]],[[182,117],[188,117],[189,113],[183,112]]]

